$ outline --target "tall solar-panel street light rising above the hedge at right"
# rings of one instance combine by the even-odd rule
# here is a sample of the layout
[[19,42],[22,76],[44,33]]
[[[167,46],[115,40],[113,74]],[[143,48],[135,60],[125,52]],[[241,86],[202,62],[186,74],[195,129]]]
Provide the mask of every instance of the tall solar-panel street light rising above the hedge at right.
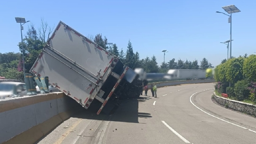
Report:
[[[228,14],[225,14],[226,16],[229,16],[228,18],[228,22],[230,22],[230,58],[232,58],[232,13],[236,13],[236,12],[241,12],[235,5],[230,5],[230,6],[223,6],[222,7],[228,14],[230,14],[230,16]],[[217,12],[217,13],[222,13],[223,12]]]

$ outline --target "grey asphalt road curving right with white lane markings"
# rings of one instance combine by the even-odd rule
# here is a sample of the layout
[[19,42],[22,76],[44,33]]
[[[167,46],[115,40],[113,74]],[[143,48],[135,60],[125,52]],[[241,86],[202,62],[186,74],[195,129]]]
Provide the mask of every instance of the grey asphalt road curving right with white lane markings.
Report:
[[115,114],[82,110],[38,144],[255,144],[256,118],[212,102],[214,84],[158,88]]

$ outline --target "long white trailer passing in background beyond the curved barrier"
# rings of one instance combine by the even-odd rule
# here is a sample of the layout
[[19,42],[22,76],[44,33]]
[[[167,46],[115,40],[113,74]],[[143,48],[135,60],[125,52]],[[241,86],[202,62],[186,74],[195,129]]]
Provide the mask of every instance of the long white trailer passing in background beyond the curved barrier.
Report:
[[206,78],[206,70],[169,70],[168,74],[171,75],[172,79],[205,79]]

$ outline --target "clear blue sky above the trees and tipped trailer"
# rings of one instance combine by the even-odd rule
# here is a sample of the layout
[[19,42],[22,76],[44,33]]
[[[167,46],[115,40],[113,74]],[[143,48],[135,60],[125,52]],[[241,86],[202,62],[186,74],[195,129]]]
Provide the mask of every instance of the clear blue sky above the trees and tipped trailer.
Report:
[[102,33],[125,51],[130,39],[140,58],[154,54],[158,64],[164,61],[162,50],[168,50],[166,61],[200,62],[205,57],[216,66],[227,58],[226,45],[220,42],[230,39],[228,16],[216,11],[224,12],[222,6],[231,4],[241,10],[232,15],[232,56],[254,54],[253,0],[6,0],[0,6],[0,52],[18,52],[21,37],[15,17],[30,20],[36,28],[43,17],[50,26],[61,20],[84,36]]

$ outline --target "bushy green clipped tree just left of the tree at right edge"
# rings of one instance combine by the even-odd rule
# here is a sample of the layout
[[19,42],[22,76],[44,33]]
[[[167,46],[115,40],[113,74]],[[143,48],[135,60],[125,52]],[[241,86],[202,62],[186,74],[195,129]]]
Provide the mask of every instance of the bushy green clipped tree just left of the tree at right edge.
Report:
[[231,84],[235,84],[237,81],[243,79],[243,64],[244,64],[244,58],[232,58],[227,60],[227,62],[224,63],[225,66],[225,75],[226,80],[228,82],[231,82]]

